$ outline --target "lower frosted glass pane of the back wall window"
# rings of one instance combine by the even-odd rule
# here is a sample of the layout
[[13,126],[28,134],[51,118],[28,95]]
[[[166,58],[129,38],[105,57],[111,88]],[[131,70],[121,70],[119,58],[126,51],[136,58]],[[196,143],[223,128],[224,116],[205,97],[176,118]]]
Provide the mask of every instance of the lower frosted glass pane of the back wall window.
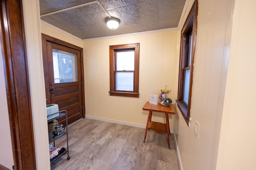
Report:
[[116,90],[133,91],[133,72],[116,72]]

